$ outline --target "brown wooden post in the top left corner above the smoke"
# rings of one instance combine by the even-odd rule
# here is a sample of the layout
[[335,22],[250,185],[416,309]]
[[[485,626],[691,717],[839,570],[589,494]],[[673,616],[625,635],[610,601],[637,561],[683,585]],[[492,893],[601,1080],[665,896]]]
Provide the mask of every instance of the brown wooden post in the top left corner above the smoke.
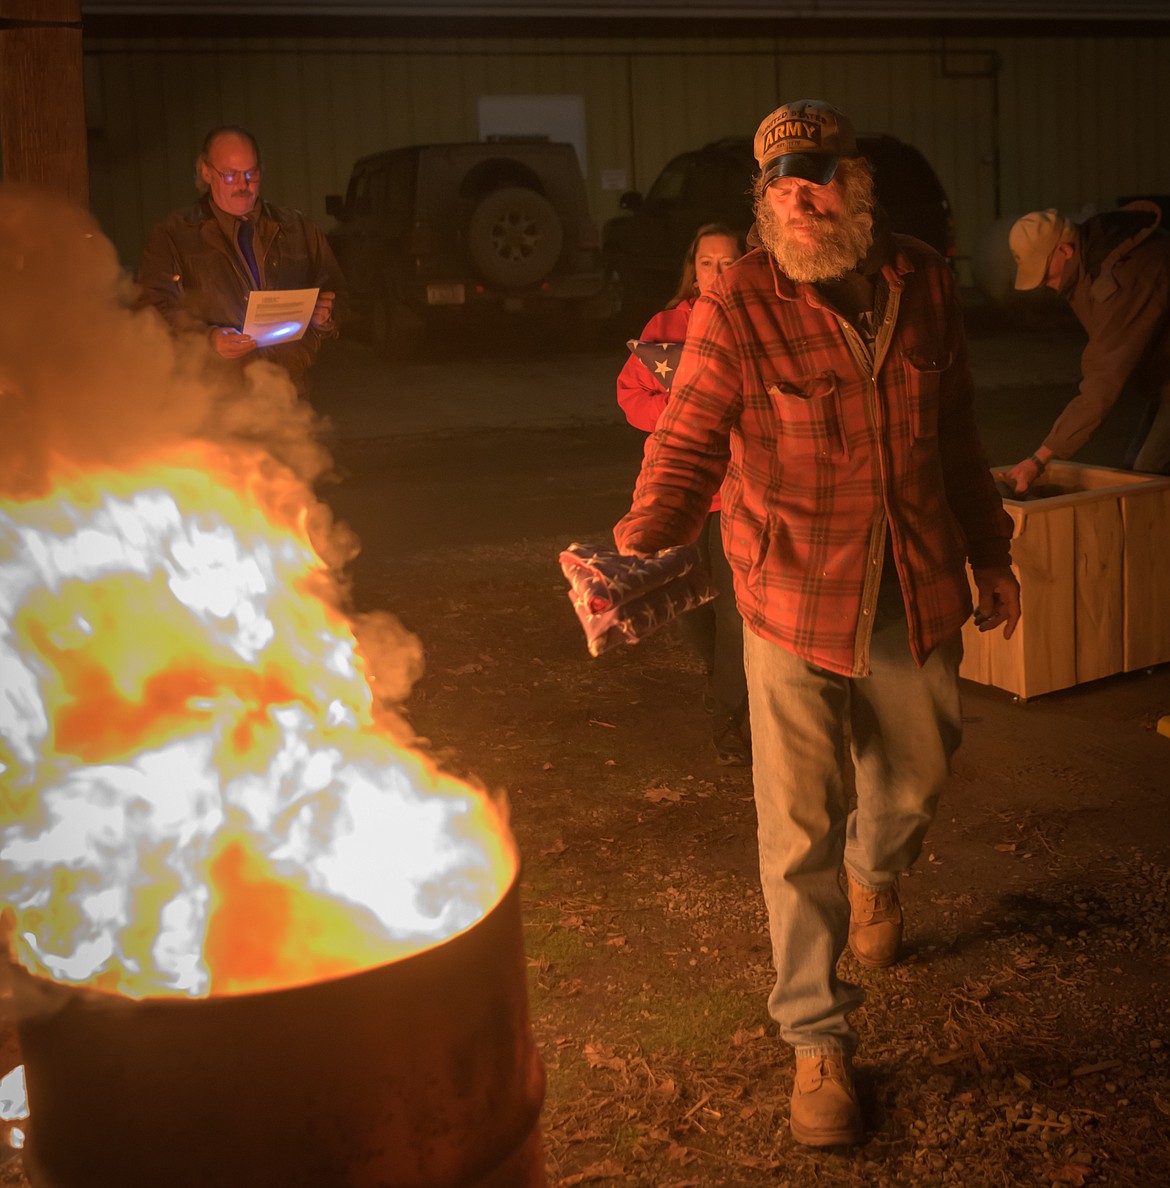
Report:
[[89,202],[81,0],[0,0],[0,177]]

